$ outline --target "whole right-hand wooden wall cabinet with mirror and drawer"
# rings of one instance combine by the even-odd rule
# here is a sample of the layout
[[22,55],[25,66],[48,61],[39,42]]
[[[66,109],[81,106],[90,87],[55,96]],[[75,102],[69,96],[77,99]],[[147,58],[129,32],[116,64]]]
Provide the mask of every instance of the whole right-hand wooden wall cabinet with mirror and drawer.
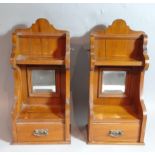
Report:
[[88,143],[143,144],[147,36],[115,20],[90,38]]

